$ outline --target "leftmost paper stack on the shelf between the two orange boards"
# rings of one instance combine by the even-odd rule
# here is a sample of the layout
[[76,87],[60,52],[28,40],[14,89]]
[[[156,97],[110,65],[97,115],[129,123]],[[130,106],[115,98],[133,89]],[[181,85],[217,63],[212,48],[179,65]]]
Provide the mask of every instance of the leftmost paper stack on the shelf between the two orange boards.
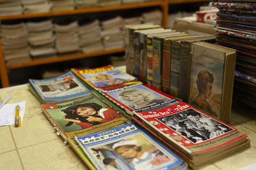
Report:
[[1,24],[1,43],[4,60],[15,64],[31,60],[29,56],[28,32],[23,22]]

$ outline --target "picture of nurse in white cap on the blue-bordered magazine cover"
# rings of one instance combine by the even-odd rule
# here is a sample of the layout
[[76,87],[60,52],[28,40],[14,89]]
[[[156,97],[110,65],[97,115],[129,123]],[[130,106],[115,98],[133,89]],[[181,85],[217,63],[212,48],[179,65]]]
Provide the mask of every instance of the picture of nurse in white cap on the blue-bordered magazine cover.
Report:
[[157,169],[175,161],[142,134],[90,150],[106,169]]

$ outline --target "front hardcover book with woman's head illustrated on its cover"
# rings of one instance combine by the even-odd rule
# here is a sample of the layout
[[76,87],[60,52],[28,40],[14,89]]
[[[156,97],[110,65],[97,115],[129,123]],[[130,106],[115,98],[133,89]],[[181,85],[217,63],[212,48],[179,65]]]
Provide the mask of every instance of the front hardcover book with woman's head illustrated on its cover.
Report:
[[191,53],[189,104],[229,122],[236,50],[201,41]]

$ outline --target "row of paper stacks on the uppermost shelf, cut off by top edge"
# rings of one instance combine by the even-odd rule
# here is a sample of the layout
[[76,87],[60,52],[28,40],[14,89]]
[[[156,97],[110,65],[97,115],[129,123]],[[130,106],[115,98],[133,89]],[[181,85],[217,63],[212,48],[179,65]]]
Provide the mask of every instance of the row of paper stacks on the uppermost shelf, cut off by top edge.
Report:
[[97,6],[143,3],[147,1],[152,0],[4,0],[0,2],[0,15],[43,13],[49,11],[92,8]]

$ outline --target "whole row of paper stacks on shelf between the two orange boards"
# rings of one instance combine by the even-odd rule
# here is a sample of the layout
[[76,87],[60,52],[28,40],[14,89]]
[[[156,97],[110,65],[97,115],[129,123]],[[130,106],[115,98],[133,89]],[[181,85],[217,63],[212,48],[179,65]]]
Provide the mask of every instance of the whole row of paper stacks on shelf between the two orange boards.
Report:
[[154,23],[159,18],[162,18],[161,11],[154,10],[138,17],[117,16],[101,22],[68,18],[42,18],[27,22],[4,20],[0,27],[4,59],[7,64],[15,64],[67,53],[92,53],[123,48],[125,25]]

